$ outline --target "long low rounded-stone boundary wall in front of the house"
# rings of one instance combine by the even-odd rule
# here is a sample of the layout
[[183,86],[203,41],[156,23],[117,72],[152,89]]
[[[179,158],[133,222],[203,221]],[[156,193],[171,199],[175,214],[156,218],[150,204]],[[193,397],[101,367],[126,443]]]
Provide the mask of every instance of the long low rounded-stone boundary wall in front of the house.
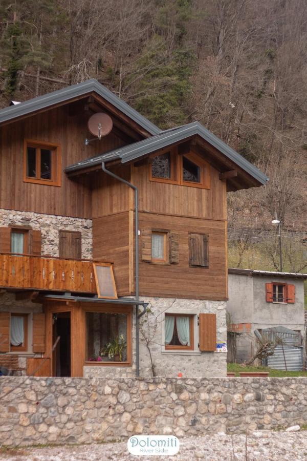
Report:
[[7,446],[133,434],[180,438],[307,422],[307,378],[2,377],[0,395],[0,440]]

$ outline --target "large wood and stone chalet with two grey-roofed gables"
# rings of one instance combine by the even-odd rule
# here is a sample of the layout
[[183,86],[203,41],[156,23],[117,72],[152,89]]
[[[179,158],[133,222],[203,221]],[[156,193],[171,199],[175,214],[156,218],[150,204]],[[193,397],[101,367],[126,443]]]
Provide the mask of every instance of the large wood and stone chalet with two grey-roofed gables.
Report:
[[0,366],[151,375],[149,334],[157,375],[225,375],[226,193],[266,176],[96,80],[1,110],[0,129]]

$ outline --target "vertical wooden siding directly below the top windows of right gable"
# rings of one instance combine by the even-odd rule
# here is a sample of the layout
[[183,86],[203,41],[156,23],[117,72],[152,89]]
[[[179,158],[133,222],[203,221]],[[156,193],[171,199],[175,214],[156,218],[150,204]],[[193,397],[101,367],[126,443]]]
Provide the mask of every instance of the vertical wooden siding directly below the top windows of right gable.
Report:
[[218,178],[219,172],[212,166],[210,174],[210,189],[202,189],[149,181],[148,164],[131,167],[131,181],[139,187],[140,211],[206,219],[226,219],[226,182]]

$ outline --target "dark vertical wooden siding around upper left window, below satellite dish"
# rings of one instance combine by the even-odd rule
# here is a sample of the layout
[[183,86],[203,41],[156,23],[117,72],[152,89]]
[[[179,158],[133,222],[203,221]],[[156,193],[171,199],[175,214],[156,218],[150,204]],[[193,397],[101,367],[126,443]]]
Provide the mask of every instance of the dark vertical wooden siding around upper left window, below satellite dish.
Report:
[[69,179],[61,172],[61,187],[23,181],[24,139],[61,146],[62,169],[125,144],[112,132],[101,141],[84,145],[89,137],[91,112],[69,104],[19,120],[0,129],[0,208],[36,213],[91,218],[91,189],[88,177]]

